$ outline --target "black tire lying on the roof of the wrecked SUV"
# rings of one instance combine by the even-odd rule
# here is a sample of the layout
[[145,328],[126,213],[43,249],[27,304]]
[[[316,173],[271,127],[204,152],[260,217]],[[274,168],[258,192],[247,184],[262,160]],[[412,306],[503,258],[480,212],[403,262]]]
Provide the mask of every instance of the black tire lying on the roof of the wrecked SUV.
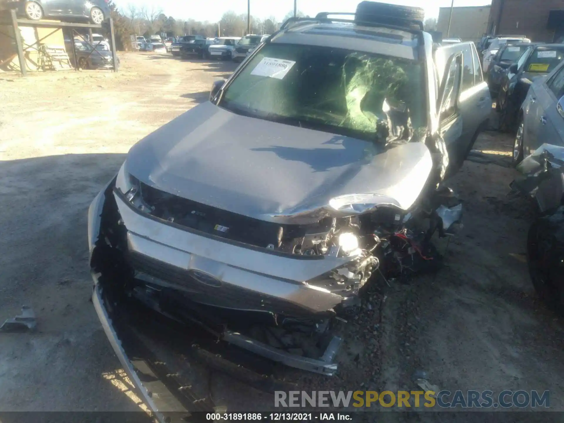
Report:
[[425,10],[421,7],[390,5],[389,3],[363,1],[356,6],[355,20],[390,23],[406,26],[402,21],[394,19],[407,19],[422,21],[425,19]]

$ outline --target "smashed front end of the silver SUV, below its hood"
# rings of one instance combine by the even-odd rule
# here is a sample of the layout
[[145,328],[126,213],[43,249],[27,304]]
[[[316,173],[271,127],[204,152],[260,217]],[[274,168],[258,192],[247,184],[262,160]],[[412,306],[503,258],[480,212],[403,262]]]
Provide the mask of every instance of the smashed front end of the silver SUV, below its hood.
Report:
[[[92,202],[89,240],[96,311],[130,371],[118,332],[146,332],[139,316],[150,314],[159,316],[158,333],[176,327],[195,340],[205,333],[208,341],[186,350],[175,345],[177,353],[195,354],[194,345],[207,342],[331,376],[341,343],[332,335],[335,318],[377,275],[408,279],[436,270],[440,255],[431,236],[448,235],[461,217],[452,191],[430,190],[408,212],[370,207],[312,224],[276,224],[193,204],[133,177],[123,192],[123,178],[118,174]],[[218,221],[222,228],[245,226],[217,231]],[[426,230],[422,221],[429,222]],[[206,347],[197,351],[200,359],[218,357]],[[265,383],[272,373],[253,365],[235,366],[254,374],[249,384],[266,390],[283,384]]]

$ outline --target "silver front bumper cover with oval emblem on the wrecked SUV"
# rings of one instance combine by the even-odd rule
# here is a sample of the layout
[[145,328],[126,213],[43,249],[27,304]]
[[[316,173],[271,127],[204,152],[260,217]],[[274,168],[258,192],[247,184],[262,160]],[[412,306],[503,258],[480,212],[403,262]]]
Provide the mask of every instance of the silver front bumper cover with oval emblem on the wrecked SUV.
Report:
[[[358,293],[360,277],[350,270],[362,263],[360,257],[279,253],[191,230],[143,209],[109,184],[90,210],[91,259],[111,259],[102,250],[119,253],[134,279],[223,309],[324,318]],[[100,237],[100,226],[114,240],[106,233]]]

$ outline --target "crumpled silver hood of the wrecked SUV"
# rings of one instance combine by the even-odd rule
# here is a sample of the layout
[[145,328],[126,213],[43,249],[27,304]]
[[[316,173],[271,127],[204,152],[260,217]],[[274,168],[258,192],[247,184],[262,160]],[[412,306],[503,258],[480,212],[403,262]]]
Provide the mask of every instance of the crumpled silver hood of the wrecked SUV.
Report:
[[158,190],[278,223],[362,213],[375,202],[407,209],[430,169],[421,142],[383,151],[210,102],[149,134],[127,156],[129,173]]

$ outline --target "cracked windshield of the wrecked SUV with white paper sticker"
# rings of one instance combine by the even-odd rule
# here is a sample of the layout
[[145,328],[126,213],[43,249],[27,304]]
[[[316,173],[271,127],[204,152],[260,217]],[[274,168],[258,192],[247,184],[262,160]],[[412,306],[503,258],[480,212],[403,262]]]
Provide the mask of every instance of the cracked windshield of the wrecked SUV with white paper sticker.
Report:
[[[271,63],[276,69],[263,73]],[[406,130],[402,136],[409,138],[413,127],[426,125],[424,84],[415,60],[271,44],[253,57],[219,104],[248,116],[370,140],[381,137],[379,123],[387,124],[387,113],[395,112]]]

